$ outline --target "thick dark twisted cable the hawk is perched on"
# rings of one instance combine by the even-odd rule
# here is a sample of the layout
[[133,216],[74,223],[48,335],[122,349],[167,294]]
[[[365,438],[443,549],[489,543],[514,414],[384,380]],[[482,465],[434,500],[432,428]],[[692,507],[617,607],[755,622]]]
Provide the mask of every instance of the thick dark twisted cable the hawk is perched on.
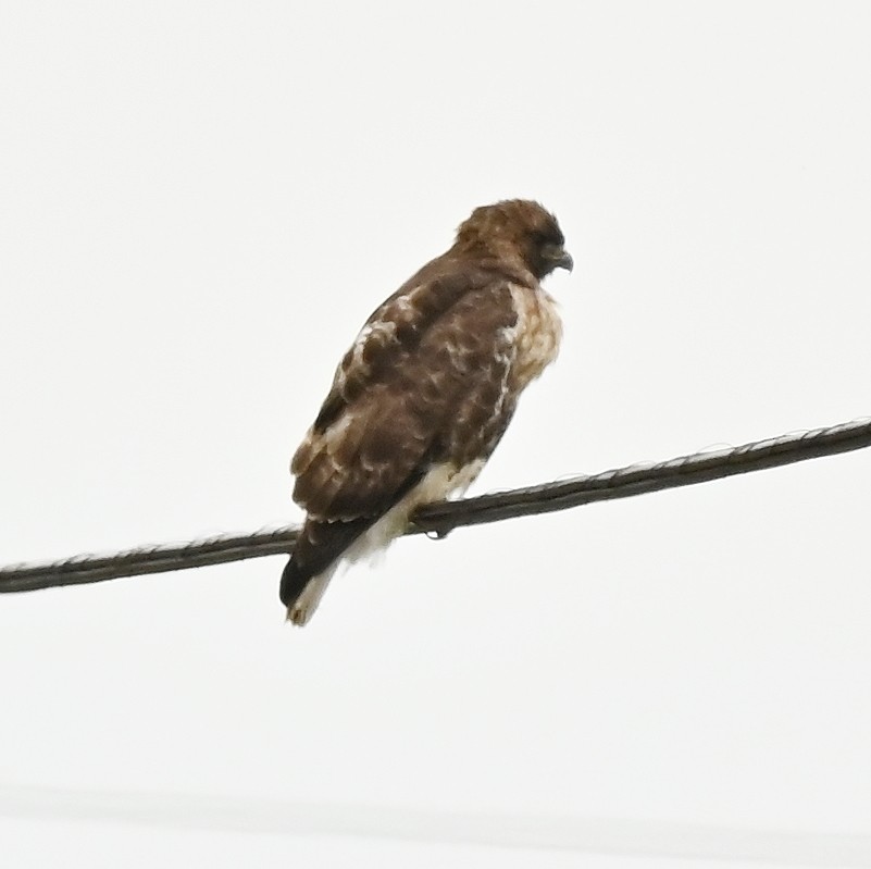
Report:
[[[430,505],[414,516],[414,526],[409,533],[441,537],[463,525],[499,522],[567,510],[593,501],[692,486],[868,446],[871,446],[871,418],[863,418],[826,429],[756,440],[739,447],[696,452],[656,463],[631,464],[598,474]],[[79,585],[287,554],[294,548],[297,533],[296,527],[281,527],[181,545],[130,549],[107,556],[77,556],[51,563],[12,564],[0,569],[0,593]]]

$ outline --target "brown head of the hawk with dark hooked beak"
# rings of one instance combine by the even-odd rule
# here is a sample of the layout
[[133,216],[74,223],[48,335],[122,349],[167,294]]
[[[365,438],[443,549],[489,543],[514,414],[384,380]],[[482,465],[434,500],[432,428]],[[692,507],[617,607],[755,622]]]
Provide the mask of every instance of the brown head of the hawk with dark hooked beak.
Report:
[[457,231],[462,250],[519,258],[539,281],[555,269],[572,270],[557,219],[530,199],[507,199],[476,208]]

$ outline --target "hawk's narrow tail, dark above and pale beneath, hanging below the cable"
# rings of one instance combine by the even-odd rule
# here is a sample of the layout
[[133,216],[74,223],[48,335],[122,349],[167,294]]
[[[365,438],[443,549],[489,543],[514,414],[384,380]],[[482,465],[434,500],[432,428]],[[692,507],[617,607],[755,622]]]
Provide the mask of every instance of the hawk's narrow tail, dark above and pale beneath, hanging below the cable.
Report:
[[314,614],[343,554],[372,524],[372,520],[315,522],[307,519],[282,573],[279,596],[287,621],[299,626]]

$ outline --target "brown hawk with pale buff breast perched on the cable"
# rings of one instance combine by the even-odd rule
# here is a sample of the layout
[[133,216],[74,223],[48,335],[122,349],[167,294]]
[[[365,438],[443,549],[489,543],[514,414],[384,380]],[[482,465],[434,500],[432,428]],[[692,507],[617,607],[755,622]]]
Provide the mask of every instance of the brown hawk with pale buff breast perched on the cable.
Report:
[[572,269],[537,202],[483,206],[363,325],[290,464],[306,510],[281,583],[306,624],[341,562],[384,548],[414,510],[463,492],[562,326],[540,281]]

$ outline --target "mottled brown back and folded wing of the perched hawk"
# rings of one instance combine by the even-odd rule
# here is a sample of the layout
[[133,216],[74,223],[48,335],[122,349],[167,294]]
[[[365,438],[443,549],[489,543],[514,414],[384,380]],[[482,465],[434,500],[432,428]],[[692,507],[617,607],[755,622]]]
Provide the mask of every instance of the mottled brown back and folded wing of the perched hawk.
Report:
[[386,512],[433,464],[486,459],[515,397],[508,281],[439,258],[369,319],[291,470],[319,522]]

